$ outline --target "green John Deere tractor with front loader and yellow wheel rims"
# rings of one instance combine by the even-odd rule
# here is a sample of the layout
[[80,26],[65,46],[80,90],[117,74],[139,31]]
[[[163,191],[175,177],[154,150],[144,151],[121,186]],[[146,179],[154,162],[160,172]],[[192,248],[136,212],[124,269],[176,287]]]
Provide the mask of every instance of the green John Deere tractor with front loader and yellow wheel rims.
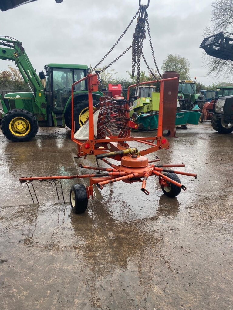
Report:
[[[31,92],[8,93],[0,97],[3,111],[2,133],[11,141],[29,141],[38,126],[71,128],[71,85],[84,78],[88,66],[78,64],[47,64],[44,72],[36,74],[22,42],[9,37],[0,38],[0,59],[15,61]],[[101,92],[93,95],[97,103]],[[87,82],[75,86],[75,130],[89,117]]]

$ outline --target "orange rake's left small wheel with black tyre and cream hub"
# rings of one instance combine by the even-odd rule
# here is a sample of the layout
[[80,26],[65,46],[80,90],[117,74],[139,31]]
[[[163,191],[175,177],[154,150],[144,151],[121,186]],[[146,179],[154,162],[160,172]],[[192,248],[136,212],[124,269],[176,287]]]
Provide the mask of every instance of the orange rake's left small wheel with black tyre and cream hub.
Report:
[[84,213],[87,210],[87,191],[83,184],[75,184],[70,190],[71,210],[76,214]]

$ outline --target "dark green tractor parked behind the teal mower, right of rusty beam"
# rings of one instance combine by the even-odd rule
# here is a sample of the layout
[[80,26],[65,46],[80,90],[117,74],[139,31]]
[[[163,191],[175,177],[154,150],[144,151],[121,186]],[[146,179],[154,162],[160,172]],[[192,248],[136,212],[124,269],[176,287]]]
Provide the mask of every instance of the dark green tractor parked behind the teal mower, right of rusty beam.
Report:
[[179,81],[178,100],[180,107],[178,108],[178,110],[191,110],[196,104],[202,110],[205,101],[202,95],[197,94],[196,82],[196,78],[194,81]]

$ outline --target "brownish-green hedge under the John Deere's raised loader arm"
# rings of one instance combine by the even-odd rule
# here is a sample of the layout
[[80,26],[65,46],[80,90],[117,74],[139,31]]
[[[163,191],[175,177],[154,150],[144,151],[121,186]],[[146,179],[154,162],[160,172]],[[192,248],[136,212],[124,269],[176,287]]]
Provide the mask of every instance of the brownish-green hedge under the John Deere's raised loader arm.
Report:
[[24,82],[20,71],[8,65],[8,70],[0,72],[0,89],[30,91],[28,85]]

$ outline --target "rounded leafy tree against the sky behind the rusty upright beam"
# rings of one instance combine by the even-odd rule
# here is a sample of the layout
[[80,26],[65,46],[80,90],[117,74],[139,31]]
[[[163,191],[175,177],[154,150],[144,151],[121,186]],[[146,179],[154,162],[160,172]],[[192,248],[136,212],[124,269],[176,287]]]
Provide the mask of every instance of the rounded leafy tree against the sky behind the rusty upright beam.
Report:
[[185,57],[181,57],[180,55],[169,54],[162,63],[163,72],[176,71],[180,73],[180,80],[190,79],[189,69],[190,69],[189,60]]

